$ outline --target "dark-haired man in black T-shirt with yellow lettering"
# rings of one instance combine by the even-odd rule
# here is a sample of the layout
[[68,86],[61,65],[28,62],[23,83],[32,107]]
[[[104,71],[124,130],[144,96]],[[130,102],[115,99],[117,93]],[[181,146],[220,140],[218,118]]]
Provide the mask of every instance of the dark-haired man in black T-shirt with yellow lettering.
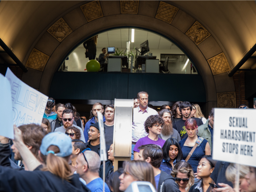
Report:
[[196,120],[197,126],[203,125],[203,121],[200,118],[190,117],[191,111],[192,105],[188,101],[184,101],[180,104],[180,112],[182,114],[182,119],[180,121],[177,121],[174,124],[173,128],[178,131],[181,140],[185,139],[188,136],[187,131],[185,129],[185,121],[187,119],[193,118]]

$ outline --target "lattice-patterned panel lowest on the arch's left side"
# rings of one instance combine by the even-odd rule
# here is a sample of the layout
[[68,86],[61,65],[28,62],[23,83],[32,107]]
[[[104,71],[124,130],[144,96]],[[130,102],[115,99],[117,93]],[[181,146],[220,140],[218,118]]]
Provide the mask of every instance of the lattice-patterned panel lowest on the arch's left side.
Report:
[[27,60],[26,67],[44,71],[45,65],[49,59],[49,56],[42,53],[37,49],[33,49]]

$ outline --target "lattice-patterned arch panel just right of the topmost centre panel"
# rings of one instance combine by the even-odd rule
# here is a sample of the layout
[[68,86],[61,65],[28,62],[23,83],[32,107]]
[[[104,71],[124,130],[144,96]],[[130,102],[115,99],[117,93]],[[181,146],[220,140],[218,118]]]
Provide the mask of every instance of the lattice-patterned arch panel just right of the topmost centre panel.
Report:
[[174,7],[173,5],[170,5],[163,1],[160,1],[155,18],[171,24],[178,10],[179,9],[177,7]]

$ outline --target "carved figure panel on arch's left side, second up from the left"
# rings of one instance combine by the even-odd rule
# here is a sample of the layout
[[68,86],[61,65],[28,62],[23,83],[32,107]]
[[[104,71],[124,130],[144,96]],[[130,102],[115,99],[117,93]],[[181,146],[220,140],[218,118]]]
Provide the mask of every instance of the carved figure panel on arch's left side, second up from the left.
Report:
[[61,42],[72,32],[72,29],[68,26],[63,18],[60,18],[47,31],[59,42]]

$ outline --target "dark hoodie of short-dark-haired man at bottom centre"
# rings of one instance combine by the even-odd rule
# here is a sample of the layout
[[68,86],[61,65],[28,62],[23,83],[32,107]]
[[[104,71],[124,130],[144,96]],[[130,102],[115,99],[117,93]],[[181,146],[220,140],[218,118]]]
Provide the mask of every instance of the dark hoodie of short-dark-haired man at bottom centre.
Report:
[[157,192],[180,192],[180,189],[173,176],[161,171]]

